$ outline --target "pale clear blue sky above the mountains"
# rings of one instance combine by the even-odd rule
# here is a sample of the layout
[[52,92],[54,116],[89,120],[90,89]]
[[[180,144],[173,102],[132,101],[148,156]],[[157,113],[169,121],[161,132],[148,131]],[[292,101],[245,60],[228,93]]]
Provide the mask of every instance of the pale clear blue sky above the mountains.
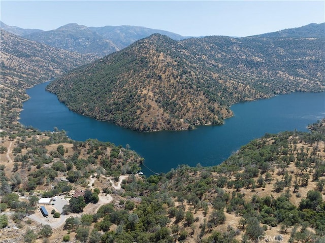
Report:
[[237,36],[325,22],[324,1],[4,1],[1,21],[50,30],[68,23],[135,25],[182,36]]

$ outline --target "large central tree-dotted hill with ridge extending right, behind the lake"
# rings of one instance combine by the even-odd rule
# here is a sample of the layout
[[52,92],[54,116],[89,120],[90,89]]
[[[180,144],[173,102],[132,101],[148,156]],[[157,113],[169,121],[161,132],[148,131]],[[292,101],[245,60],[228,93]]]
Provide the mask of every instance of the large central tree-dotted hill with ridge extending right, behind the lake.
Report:
[[153,34],[55,80],[73,111],[135,130],[220,124],[240,101],[324,90],[323,39]]

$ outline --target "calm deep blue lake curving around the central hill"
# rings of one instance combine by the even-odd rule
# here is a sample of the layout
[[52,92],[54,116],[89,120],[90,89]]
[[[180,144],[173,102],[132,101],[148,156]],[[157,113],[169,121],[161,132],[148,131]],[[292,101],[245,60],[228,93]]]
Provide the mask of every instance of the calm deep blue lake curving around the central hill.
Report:
[[[307,131],[308,124],[325,117],[325,93],[299,92],[238,103],[231,108],[235,116],[226,119],[222,126],[141,133],[70,111],[54,94],[45,91],[47,84],[27,90],[30,99],[23,103],[21,124],[42,131],[57,127],[77,141],[97,138],[123,147],[129,144],[155,172],[168,172],[178,164],[216,165],[266,132]],[[146,175],[151,173],[146,168],[143,171]]]

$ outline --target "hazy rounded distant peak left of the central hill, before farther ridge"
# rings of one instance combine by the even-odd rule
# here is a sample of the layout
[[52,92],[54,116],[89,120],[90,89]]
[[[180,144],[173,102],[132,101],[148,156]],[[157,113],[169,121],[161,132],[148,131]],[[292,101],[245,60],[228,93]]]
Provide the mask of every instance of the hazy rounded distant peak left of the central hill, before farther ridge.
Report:
[[120,50],[112,41],[104,39],[84,25],[75,23],[54,30],[28,34],[24,38],[72,52],[97,56],[105,56]]

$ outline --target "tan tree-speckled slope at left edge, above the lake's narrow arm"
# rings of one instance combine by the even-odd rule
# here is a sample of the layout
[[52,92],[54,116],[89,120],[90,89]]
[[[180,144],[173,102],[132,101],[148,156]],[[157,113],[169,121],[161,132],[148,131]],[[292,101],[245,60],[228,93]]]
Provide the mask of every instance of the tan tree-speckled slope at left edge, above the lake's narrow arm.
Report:
[[31,87],[96,58],[46,46],[1,29],[2,83],[20,88]]

